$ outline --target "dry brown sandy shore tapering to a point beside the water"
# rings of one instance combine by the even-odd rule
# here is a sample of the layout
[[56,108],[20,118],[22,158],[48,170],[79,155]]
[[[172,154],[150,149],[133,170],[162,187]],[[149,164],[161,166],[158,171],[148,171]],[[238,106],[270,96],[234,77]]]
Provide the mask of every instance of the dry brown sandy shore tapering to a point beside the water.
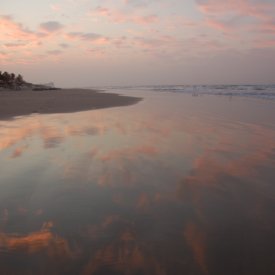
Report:
[[126,106],[141,98],[100,93],[95,90],[0,91],[0,119],[32,113],[70,113],[90,109]]

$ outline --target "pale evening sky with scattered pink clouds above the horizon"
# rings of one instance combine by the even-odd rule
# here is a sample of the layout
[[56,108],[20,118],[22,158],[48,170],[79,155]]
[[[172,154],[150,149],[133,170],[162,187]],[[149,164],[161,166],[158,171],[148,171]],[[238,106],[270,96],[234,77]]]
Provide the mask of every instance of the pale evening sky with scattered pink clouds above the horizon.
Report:
[[0,70],[60,87],[275,83],[275,0],[9,0]]

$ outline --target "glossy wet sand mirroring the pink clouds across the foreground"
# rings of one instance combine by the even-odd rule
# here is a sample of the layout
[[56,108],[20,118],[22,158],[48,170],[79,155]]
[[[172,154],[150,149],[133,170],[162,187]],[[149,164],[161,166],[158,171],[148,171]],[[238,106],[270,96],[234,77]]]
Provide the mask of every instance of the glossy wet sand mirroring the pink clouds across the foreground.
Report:
[[271,104],[150,94],[1,121],[2,273],[273,274]]

